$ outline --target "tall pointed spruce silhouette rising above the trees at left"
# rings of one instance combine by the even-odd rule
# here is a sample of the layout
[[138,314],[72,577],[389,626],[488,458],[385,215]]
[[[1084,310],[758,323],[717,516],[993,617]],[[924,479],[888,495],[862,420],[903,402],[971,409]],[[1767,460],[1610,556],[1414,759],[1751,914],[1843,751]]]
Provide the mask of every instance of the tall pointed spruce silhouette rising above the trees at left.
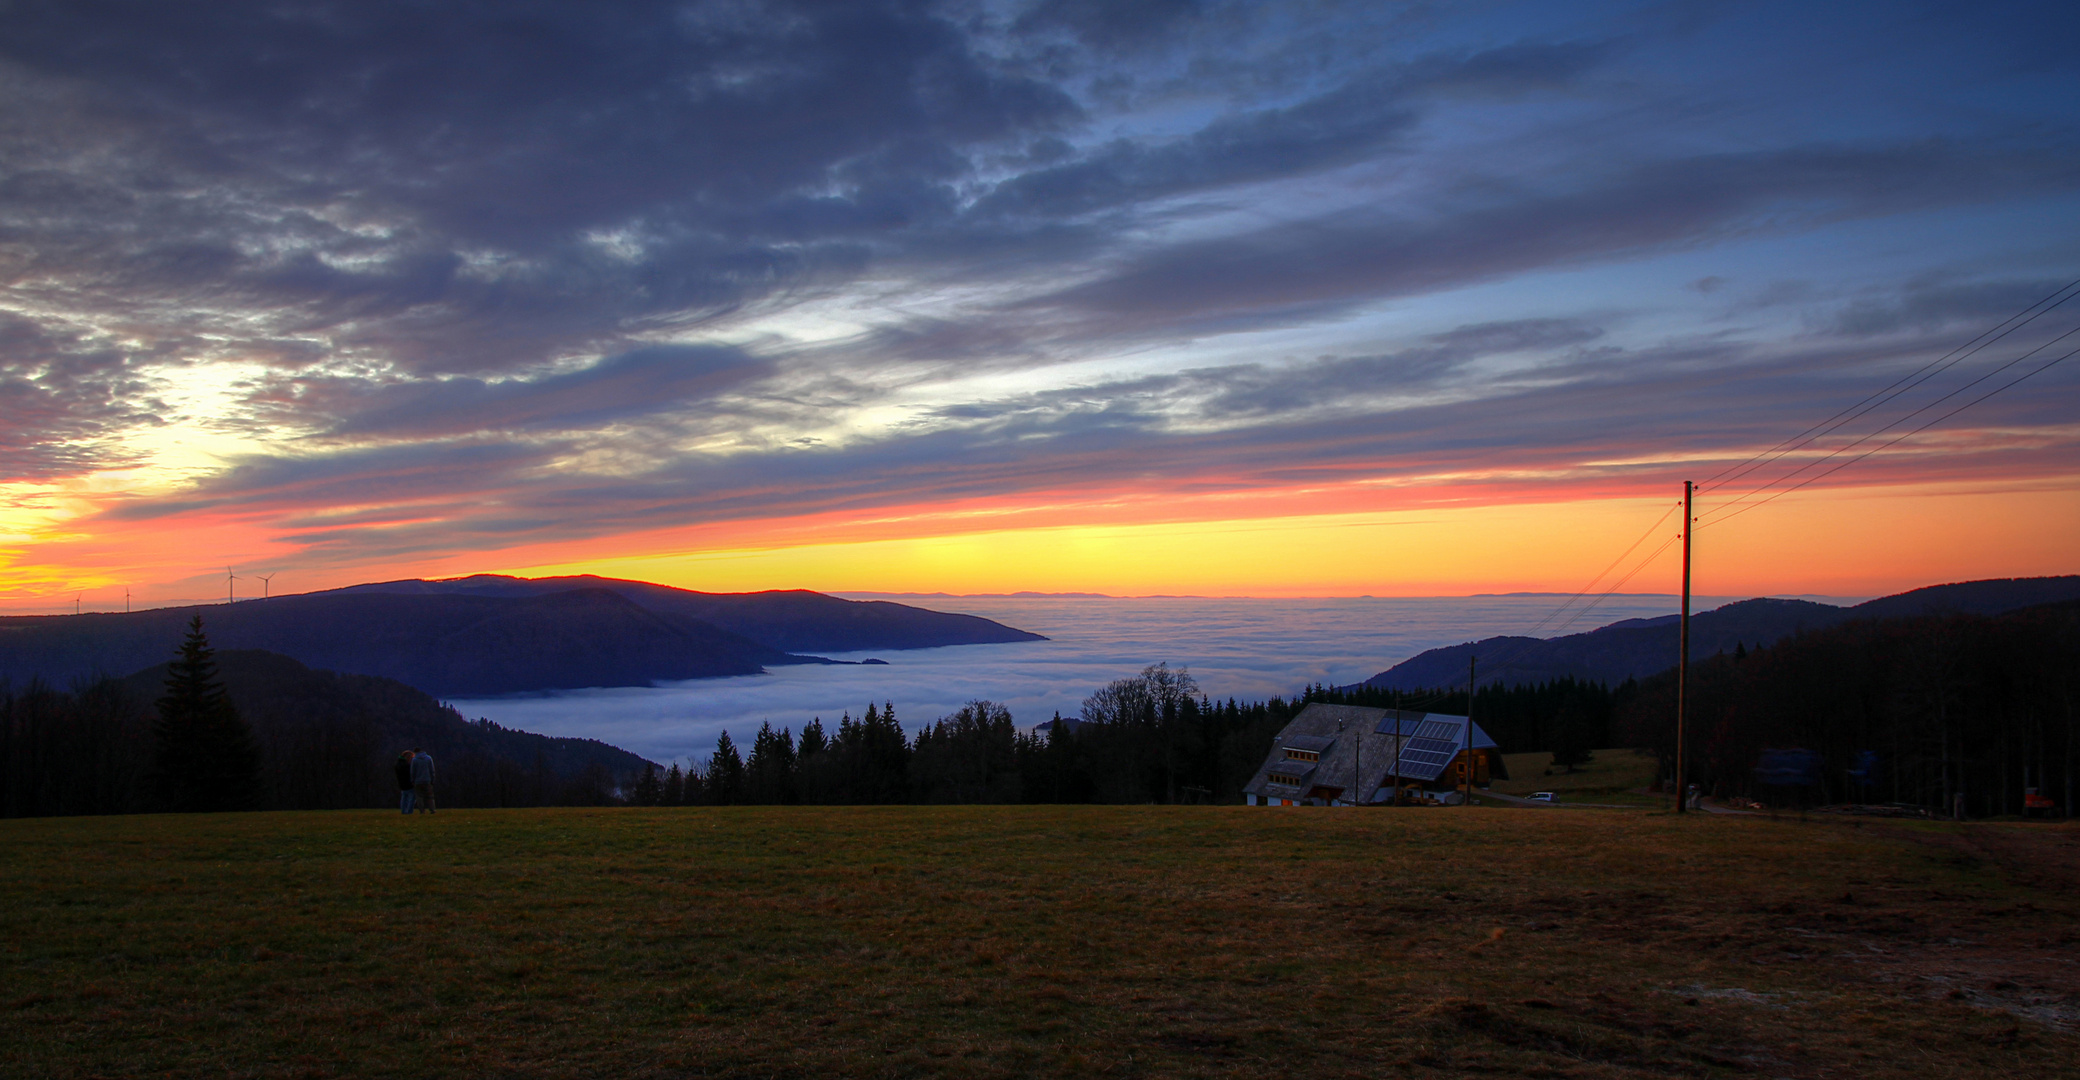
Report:
[[216,651],[202,616],[166,668],[166,693],[152,724],[154,780],[164,809],[252,809],[260,801],[260,747],[216,680]]

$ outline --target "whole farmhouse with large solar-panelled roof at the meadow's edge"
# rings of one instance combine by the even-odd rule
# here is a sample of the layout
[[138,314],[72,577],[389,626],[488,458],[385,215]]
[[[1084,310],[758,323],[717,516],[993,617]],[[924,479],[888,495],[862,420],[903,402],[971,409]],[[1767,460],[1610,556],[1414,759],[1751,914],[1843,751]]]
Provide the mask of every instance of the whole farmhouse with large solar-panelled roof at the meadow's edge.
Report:
[[1392,803],[1396,778],[1404,791],[1439,797],[1468,768],[1477,787],[1510,778],[1496,741],[1464,716],[1317,701],[1279,730],[1242,797],[1250,805]]

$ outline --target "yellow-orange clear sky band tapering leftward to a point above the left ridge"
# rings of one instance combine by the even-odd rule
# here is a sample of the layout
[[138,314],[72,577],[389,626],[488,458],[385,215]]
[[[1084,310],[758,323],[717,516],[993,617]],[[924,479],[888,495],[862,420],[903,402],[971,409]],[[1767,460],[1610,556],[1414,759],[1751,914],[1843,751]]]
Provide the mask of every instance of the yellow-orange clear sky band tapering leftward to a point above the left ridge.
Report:
[[[508,564],[522,576],[632,576],[705,591],[1113,595],[1568,593],[1674,499],[1423,508],[1165,524],[1071,524]],[[1699,504],[1699,510],[1710,504]],[[1995,522],[2011,522],[2001,526]],[[1991,529],[1988,529],[1991,526]],[[1787,497],[1697,533],[1706,595],[1882,595],[1984,576],[2080,572],[2080,491],[1868,489]],[[1676,533],[1670,516],[1622,564]],[[1991,543],[1991,533],[2005,533]],[[1666,537],[1664,537],[1666,535]],[[1674,549],[1622,591],[1676,591]],[[1610,578],[1602,587],[1610,587]]]

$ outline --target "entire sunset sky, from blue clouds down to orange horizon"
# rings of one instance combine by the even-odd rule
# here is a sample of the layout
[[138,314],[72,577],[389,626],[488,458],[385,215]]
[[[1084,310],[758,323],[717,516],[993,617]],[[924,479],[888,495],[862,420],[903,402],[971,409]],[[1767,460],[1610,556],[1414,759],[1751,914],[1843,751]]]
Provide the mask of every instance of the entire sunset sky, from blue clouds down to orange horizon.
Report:
[[12,2],[0,610],[2080,572],[2074,10]]

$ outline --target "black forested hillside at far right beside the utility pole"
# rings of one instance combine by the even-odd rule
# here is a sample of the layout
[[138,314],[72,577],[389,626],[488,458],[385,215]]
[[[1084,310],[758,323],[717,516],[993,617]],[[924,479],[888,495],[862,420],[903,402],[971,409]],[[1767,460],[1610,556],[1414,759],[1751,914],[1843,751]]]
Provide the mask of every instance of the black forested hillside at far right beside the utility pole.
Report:
[[[1847,622],[1689,670],[1687,778],[1712,795],[2020,814],[2034,787],[2070,816],[2080,755],[2080,606]],[[1641,683],[1627,745],[1674,766],[1674,672]],[[1764,751],[1805,751],[1795,787]]]

